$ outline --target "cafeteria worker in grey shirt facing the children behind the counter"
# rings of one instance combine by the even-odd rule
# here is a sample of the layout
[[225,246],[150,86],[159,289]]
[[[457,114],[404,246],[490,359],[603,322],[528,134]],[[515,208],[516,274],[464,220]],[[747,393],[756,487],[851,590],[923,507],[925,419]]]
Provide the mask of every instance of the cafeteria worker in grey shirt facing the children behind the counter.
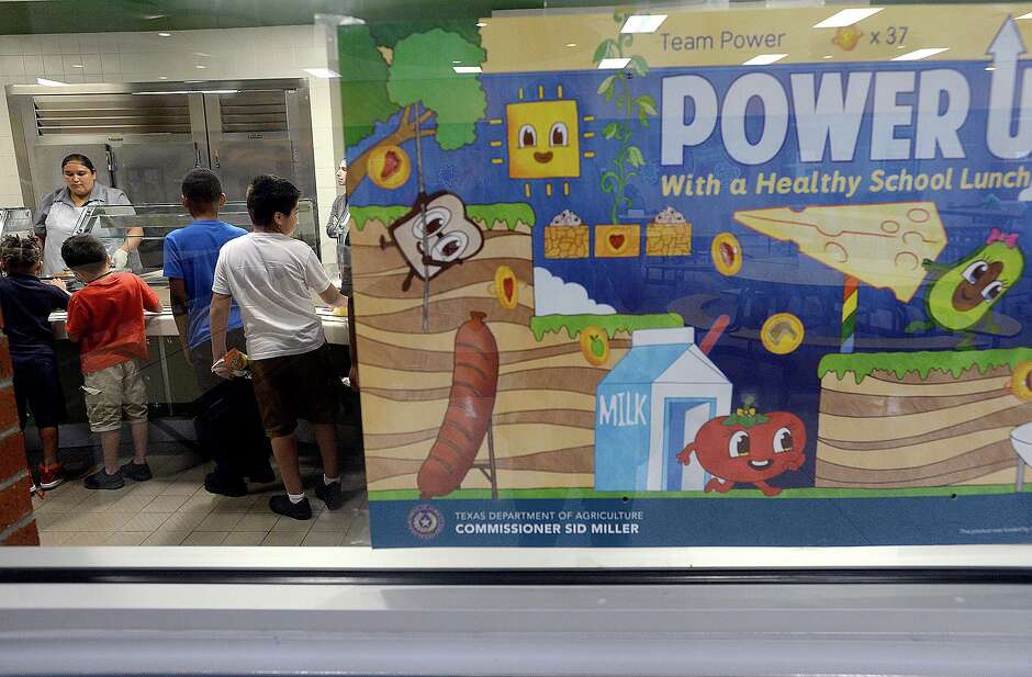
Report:
[[[71,237],[79,215],[87,206],[112,204],[131,205],[128,198],[117,188],[97,182],[93,162],[85,155],[74,153],[61,160],[65,187],[43,196],[33,228],[43,245],[43,275],[56,275],[65,268],[60,246]],[[114,268],[139,270],[139,241],[143,228],[130,228],[124,238],[108,228],[94,227],[93,237],[104,244]]]

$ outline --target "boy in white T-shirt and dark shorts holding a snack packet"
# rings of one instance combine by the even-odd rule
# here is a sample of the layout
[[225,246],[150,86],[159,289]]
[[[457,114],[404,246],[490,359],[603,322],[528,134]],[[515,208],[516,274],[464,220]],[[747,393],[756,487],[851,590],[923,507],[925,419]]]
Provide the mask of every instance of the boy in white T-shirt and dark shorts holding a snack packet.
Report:
[[226,242],[215,264],[212,371],[232,377],[224,358],[231,300],[236,301],[255,396],[287,488],[285,496],[269,499],[269,507],[294,519],[311,519],[298,464],[298,418],[312,425],[323,459],[315,495],[332,510],[344,505],[344,496],[334,428],[337,383],[310,290],[333,307],[344,307],[348,300],[329,282],[315,252],[291,237],[300,198],[290,181],[270,174],[256,177],[248,187],[247,211],[255,230]]

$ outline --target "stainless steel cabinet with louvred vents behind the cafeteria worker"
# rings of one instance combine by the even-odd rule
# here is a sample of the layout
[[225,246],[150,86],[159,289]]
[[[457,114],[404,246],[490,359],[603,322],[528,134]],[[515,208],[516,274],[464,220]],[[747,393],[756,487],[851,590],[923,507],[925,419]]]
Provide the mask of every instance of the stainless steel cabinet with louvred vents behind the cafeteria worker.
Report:
[[135,204],[178,203],[193,167],[215,170],[231,201],[244,200],[259,173],[315,196],[305,80],[11,86],[8,99],[26,206],[63,185],[70,153]]

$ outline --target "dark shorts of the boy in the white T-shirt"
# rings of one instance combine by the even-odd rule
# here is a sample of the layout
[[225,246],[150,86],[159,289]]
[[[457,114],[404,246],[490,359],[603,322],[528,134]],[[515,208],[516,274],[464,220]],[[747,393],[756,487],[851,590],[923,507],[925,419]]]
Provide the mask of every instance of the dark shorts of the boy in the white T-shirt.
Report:
[[337,418],[338,376],[324,343],[312,352],[250,360],[261,424],[270,438],[285,437],[298,419],[332,424]]

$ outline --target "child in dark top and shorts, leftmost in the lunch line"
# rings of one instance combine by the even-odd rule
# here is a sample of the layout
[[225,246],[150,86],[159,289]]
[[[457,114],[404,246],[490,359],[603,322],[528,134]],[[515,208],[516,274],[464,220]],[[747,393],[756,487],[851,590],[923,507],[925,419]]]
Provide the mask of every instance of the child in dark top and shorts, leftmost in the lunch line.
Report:
[[0,241],[0,309],[14,365],[14,399],[18,418],[25,429],[27,409],[40,428],[43,463],[40,487],[51,489],[64,482],[57,461],[57,424],[65,418],[65,398],[57,379],[57,354],[49,315],[68,307],[68,292],[60,280],[49,283],[37,277],[42,252],[31,237],[9,235]]

